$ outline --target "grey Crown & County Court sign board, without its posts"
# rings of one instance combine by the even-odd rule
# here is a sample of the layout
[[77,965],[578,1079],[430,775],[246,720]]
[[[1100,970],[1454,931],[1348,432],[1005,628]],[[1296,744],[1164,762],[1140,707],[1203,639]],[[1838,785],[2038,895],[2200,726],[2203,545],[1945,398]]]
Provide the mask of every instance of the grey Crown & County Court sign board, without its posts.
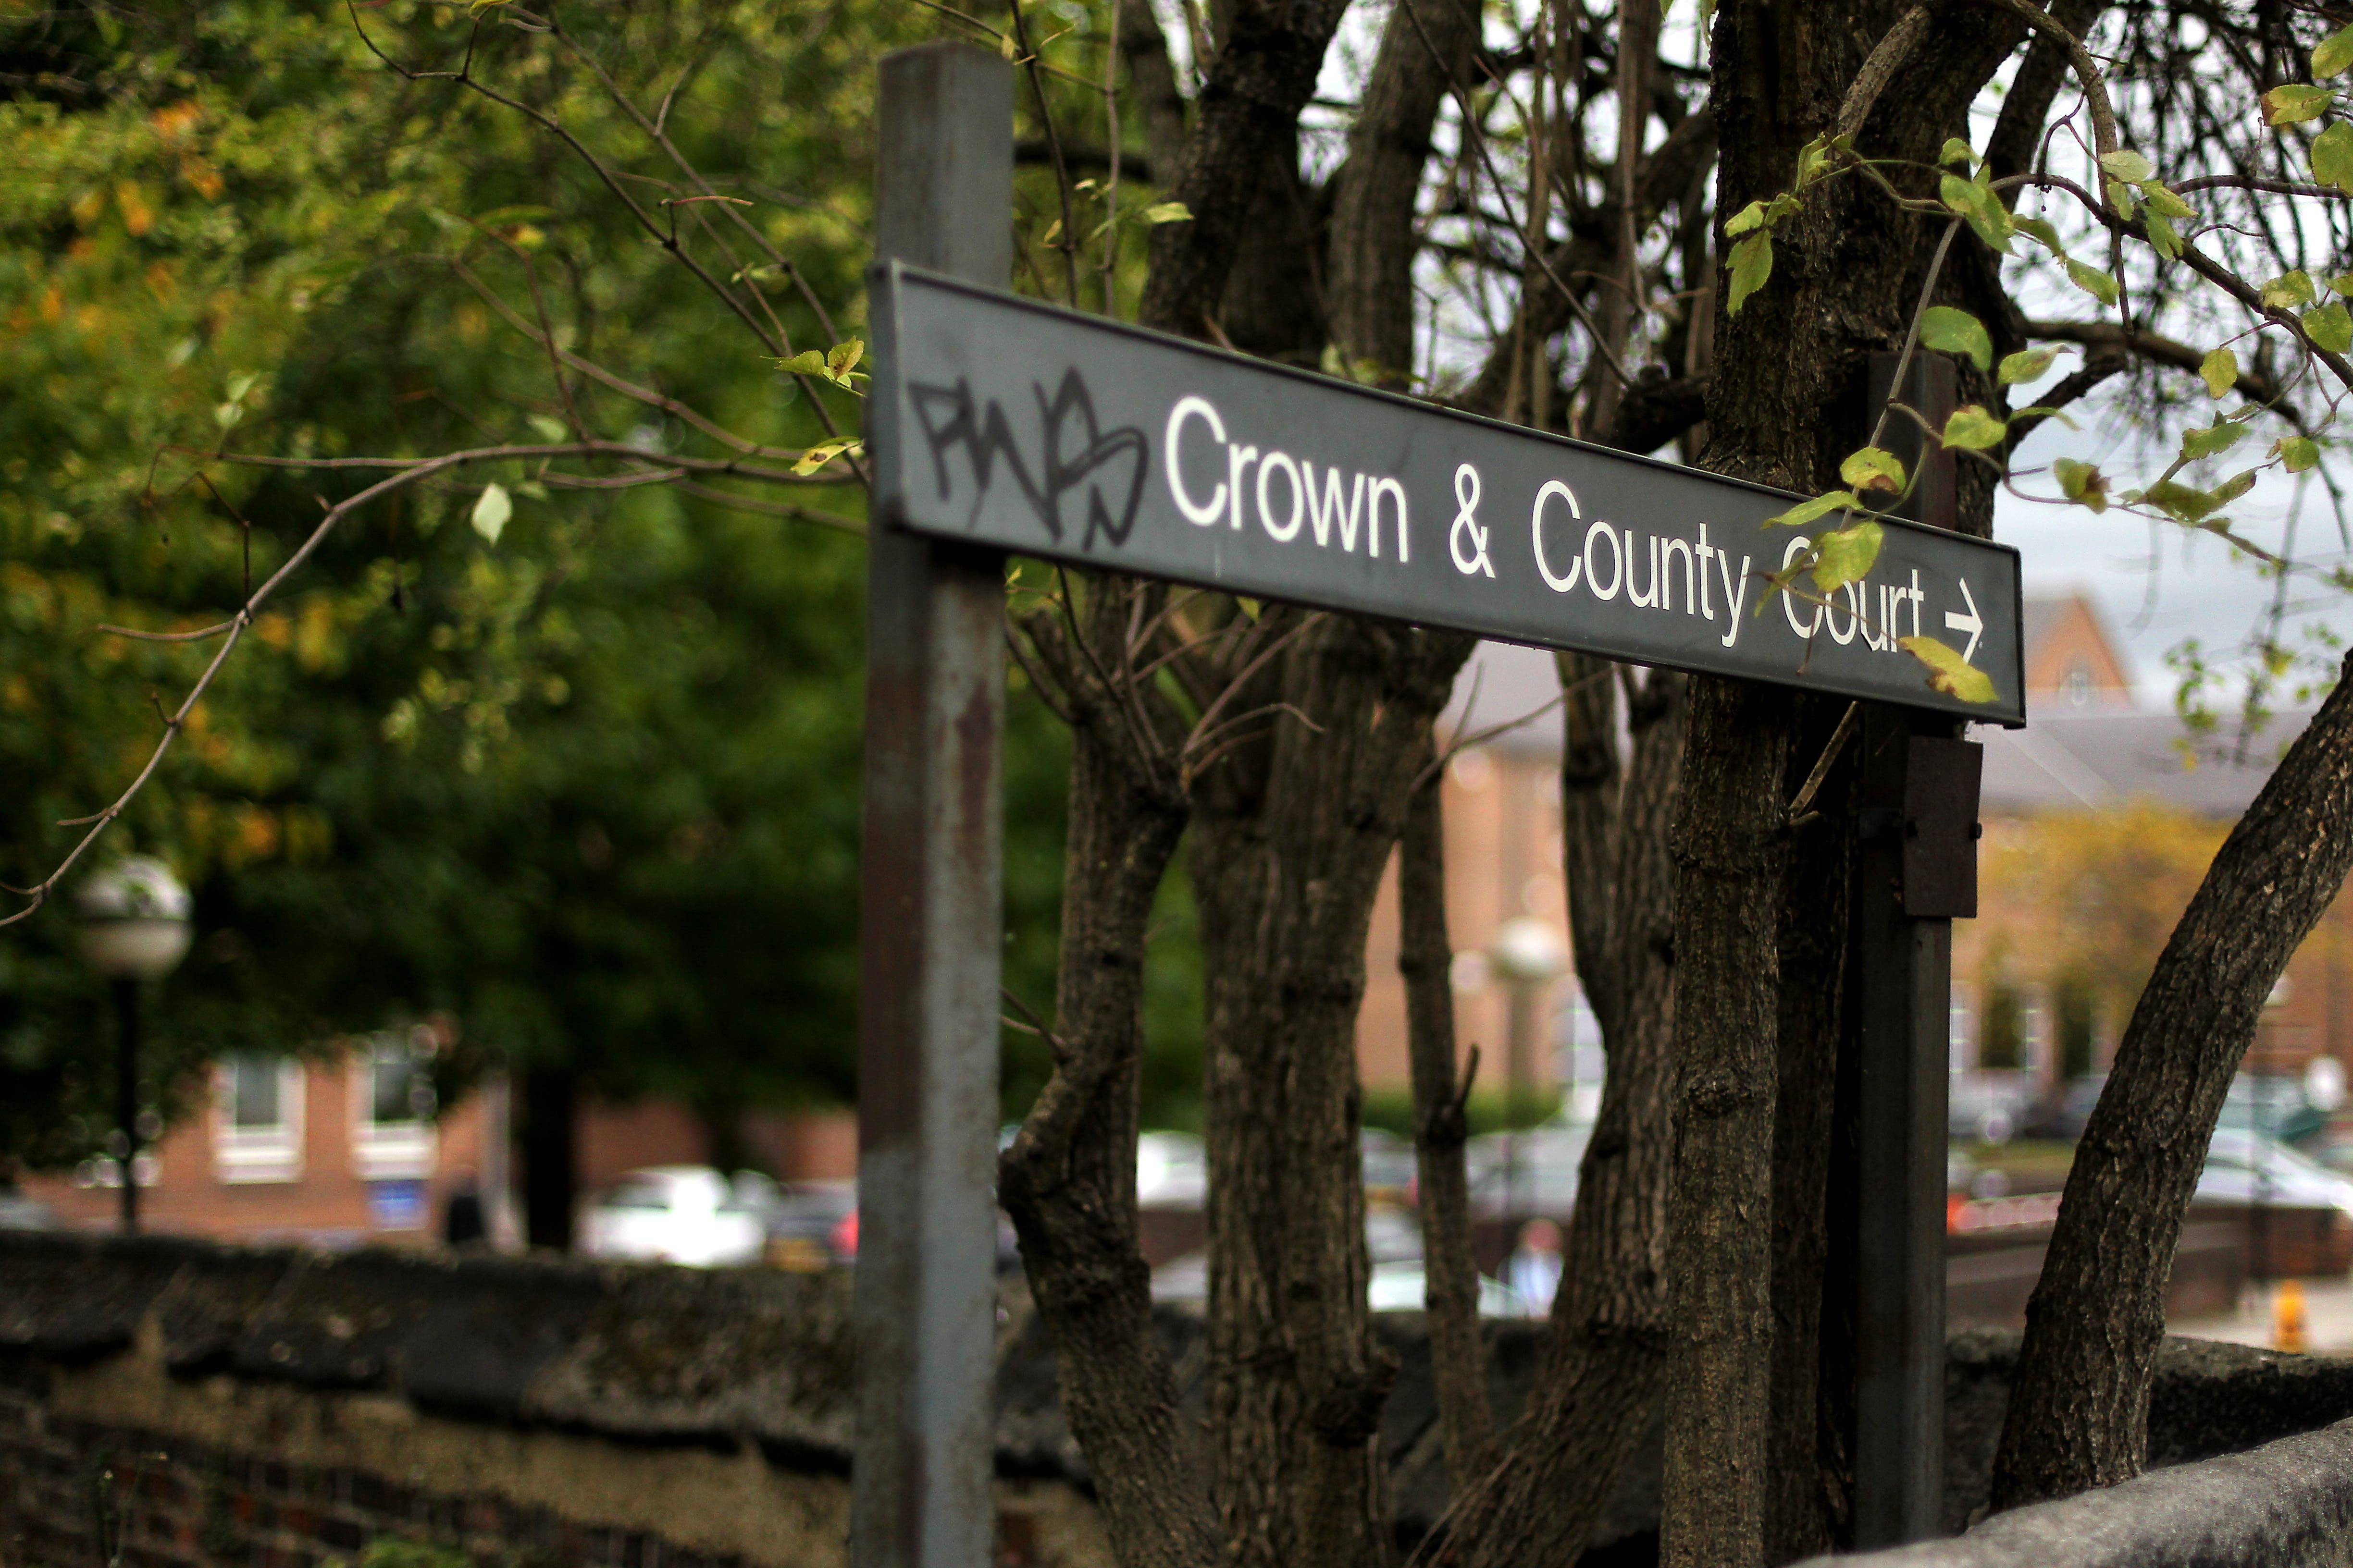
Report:
[[[1887,524],[1828,604],[1800,496],[873,268],[878,512],[920,534],[1504,642],[2019,724],[2019,555]],[[1802,583],[1802,578],[1800,578]],[[1760,611],[1762,604],[1762,611]],[[1929,686],[1937,637],[1993,703]]]

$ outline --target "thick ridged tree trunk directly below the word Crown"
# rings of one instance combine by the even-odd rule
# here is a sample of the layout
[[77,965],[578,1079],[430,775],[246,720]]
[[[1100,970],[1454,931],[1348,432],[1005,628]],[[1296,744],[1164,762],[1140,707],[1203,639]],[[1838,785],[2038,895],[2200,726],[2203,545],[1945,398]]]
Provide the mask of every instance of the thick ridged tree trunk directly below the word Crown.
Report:
[[1320,618],[1195,790],[1209,1048],[1209,1425],[1224,1561],[1388,1554],[1355,1011],[1372,898],[1468,637]]

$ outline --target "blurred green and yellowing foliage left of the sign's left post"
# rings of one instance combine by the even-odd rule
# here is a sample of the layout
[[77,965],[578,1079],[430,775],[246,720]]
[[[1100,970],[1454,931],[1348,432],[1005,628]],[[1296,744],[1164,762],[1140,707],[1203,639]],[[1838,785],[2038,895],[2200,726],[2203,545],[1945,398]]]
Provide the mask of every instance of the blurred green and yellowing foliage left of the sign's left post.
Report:
[[[584,430],[727,454],[675,411],[558,383],[551,343],[751,442],[824,437],[819,395],[856,428],[854,397],[779,376],[614,186],[739,301],[758,289],[772,339],[856,336],[873,59],[934,24],[666,0],[567,7],[565,28],[407,0],[0,0],[0,879],[56,865],[82,832],[59,823],[125,788],[219,649],[99,625],[228,618],[379,477],[224,451]],[[376,49],[466,61],[522,108]],[[628,106],[664,101],[678,155],[741,207],[661,205],[692,186]],[[513,498],[494,529],[489,482]],[[482,463],[355,512],[289,578],[96,851],[162,853],[198,893],[198,950],[153,1011],[165,1105],[221,1051],[435,1011],[464,1041],[445,1088],[569,1065],[713,1119],[854,1093],[864,545],[729,484]],[[861,527],[854,487],[791,496]],[[1007,985],[1045,1013],[1066,738],[1019,691],[1007,755]],[[1153,1081],[1179,1098],[1188,961],[1155,964],[1179,1060]],[[64,900],[0,936],[0,1161],[104,1133],[99,1001]],[[1009,1110],[1045,1067],[1009,1037]]]

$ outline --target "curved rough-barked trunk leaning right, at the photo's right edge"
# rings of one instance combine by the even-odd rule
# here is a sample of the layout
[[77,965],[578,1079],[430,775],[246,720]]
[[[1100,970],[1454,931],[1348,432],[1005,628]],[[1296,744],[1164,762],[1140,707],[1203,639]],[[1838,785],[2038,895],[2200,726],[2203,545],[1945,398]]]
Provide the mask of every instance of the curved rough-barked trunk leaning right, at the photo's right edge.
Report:
[[2264,997],[2353,867],[2353,656],[2224,839],[2132,1009],[2026,1305],[1993,1507],[2113,1486],[2148,1460],[2165,1286]]

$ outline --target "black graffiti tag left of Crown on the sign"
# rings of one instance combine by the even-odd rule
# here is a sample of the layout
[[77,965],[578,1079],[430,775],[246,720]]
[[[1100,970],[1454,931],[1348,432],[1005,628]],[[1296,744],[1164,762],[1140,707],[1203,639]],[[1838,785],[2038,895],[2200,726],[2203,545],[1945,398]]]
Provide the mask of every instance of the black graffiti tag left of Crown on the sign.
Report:
[[[1031,383],[1042,430],[1035,477],[1021,458],[1012,421],[1005,418],[1005,404],[991,397],[986,411],[981,411],[972,397],[972,383],[962,376],[955,386],[913,383],[908,393],[915,397],[915,418],[922,421],[922,435],[932,447],[932,473],[939,480],[941,498],[951,491],[948,454],[962,447],[972,461],[972,475],[979,480],[979,489],[972,496],[974,517],[995,477],[998,458],[1005,458],[1014,484],[1021,487],[1024,498],[1054,543],[1061,543],[1064,534],[1061,503],[1080,487],[1087,491],[1087,531],[1080,536],[1078,548],[1092,550],[1096,534],[1104,534],[1113,548],[1127,543],[1129,529],[1136,527],[1136,508],[1144,503],[1151,447],[1134,425],[1104,430],[1096,423],[1094,397],[1075,369],[1064,371],[1052,400],[1047,400],[1045,386]],[[1122,463],[1127,465],[1125,496],[1118,494]],[[1115,498],[1115,505],[1106,503],[1106,480],[1111,482],[1108,494]]]

